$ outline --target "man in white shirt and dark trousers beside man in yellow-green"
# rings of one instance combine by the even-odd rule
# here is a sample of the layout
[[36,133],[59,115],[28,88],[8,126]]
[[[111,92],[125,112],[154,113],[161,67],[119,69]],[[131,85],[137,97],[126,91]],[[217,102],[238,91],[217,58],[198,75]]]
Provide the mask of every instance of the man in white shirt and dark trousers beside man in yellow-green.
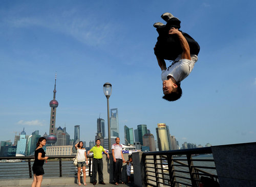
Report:
[[116,138],[116,143],[111,146],[112,155],[113,155],[113,164],[114,164],[114,183],[118,185],[121,181],[121,169],[122,165],[125,162],[123,158],[122,145],[119,144],[120,139]]

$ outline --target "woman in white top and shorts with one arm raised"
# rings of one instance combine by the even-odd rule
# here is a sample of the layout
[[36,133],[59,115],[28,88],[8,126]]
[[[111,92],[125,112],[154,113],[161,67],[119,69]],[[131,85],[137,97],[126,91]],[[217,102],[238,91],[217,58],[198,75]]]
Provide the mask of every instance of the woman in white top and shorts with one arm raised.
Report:
[[77,150],[77,178],[78,178],[78,185],[81,185],[80,182],[80,172],[82,168],[83,173],[83,185],[86,185],[86,165],[88,165],[88,159],[86,154],[86,149],[82,147],[82,141],[78,142],[75,145]]

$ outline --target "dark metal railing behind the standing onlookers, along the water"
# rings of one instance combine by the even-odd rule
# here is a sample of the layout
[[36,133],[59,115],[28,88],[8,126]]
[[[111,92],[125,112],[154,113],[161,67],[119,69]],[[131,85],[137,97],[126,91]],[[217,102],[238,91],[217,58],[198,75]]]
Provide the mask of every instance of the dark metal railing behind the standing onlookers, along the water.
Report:
[[[73,165],[74,157],[75,155],[49,156],[48,160],[44,164],[44,177],[75,177],[77,175],[77,167]],[[34,156],[0,157],[0,161],[0,179],[14,177],[32,178],[33,176],[32,166]],[[92,176],[92,155],[88,155],[88,161],[88,176]]]

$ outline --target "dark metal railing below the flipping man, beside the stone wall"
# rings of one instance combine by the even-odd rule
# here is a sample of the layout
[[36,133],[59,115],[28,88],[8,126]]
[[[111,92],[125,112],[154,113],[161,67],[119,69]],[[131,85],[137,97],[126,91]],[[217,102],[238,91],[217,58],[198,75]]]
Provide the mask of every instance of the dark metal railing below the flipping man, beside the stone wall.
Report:
[[199,186],[202,176],[218,182],[211,153],[210,147],[144,152],[143,186]]

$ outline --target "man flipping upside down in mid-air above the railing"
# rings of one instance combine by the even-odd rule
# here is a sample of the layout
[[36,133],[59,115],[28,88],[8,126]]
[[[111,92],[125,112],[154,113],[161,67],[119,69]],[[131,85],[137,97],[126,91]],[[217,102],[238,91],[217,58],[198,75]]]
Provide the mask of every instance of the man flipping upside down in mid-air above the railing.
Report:
[[[200,47],[188,34],[178,30],[180,28],[178,18],[170,13],[164,13],[161,17],[167,21],[167,24],[160,22],[154,24],[159,33],[154,50],[158,65],[162,70],[163,98],[175,101],[182,95],[180,82],[193,70],[198,60]],[[190,51],[193,54],[190,55]],[[166,68],[164,59],[173,60],[172,65]]]

